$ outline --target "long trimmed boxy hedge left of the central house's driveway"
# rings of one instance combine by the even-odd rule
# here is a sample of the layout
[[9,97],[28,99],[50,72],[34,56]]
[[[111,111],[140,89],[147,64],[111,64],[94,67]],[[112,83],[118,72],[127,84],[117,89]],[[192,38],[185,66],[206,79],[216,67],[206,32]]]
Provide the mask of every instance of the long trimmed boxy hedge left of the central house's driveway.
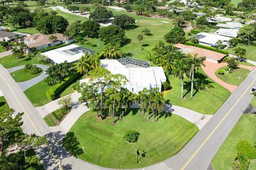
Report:
[[67,78],[65,78],[61,83],[55,84],[54,86],[50,87],[46,90],[46,97],[50,100],[54,100],[55,96],[59,94],[61,90],[63,90],[65,87],[69,86],[71,83],[74,82],[81,74],[75,73]]

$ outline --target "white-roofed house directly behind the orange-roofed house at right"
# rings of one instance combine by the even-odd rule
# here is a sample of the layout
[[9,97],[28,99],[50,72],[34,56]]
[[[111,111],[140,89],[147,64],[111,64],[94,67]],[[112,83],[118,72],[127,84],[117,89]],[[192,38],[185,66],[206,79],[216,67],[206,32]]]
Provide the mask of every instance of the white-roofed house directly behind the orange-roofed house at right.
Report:
[[223,45],[228,46],[228,41],[231,39],[230,37],[220,36],[214,33],[207,32],[197,33],[196,36],[190,37],[189,40],[191,40],[192,38],[197,38],[199,40],[199,44],[211,47],[215,47],[218,40],[221,40]]

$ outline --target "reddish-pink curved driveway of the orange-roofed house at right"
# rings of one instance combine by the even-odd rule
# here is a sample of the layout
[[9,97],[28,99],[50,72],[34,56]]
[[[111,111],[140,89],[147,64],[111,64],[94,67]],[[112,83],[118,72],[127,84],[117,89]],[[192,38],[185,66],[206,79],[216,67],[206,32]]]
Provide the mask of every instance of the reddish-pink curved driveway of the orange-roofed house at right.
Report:
[[[202,69],[204,70],[204,72],[210,77],[212,78],[215,82],[219,83],[221,86],[225,87],[226,89],[228,89],[231,93],[233,93],[238,86],[232,85],[232,84],[228,84],[225,81],[220,80],[216,75],[215,75],[215,71],[217,71],[218,69],[220,69],[220,67],[226,66],[227,63],[213,63],[211,61],[204,61],[205,66],[202,66]],[[255,67],[253,66],[247,66],[247,65],[238,65],[241,68],[247,69],[252,71]]]

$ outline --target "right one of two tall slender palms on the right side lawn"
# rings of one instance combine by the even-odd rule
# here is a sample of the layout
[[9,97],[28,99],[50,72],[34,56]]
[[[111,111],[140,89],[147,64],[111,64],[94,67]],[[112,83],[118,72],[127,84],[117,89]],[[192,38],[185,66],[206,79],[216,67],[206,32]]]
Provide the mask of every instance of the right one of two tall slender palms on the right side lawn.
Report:
[[198,67],[204,65],[203,60],[205,58],[203,57],[197,57],[197,53],[194,55],[191,55],[190,53],[187,54],[187,57],[189,58],[189,65],[190,65],[190,79],[191,79],[191,93],[190,97],[193,98],[193,89],[194,89],[194,73],[197,71]]

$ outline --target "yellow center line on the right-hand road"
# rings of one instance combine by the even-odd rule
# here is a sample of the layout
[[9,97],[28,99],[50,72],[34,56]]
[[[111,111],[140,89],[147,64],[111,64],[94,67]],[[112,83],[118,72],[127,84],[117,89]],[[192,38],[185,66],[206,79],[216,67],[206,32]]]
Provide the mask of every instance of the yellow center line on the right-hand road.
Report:
[[219,126],[222,124],[222,122],[226,119],[226,117],[229,115],[229,113],[234,109],[234,107],[237,105],[237,103],[242,99],[242,97],[245,95],[246,92],[248,92],[249,88],[252,86],[252,84],[256,81],[256,79],[254,79],[251,84],[249,85],[249,87],[247,87],[247,89],[243,92],[243,94],[238,98],[238,100],[236,101],[236,103],[229,109],[229,111],[226,113],[226,115],[222,118],[222,120],[218,123],[217,126],[215,126],[215,128],[212,130],[212,132],[208,135],[208,137],[204,140],[204,142],[201,144],[201,146],[198,147],[198,149],[194,152],[194,154],[188,159],[187,163],[182,166],[182,168],[180,170],[184,170],[188,164],[191,162],[191,160],[196,156],[196,154],[198,153],[199,150],[202,149],[202,147],[205,145],[205,143],[209,140],[209,138],[212,136],[212,134],[219,128]]

